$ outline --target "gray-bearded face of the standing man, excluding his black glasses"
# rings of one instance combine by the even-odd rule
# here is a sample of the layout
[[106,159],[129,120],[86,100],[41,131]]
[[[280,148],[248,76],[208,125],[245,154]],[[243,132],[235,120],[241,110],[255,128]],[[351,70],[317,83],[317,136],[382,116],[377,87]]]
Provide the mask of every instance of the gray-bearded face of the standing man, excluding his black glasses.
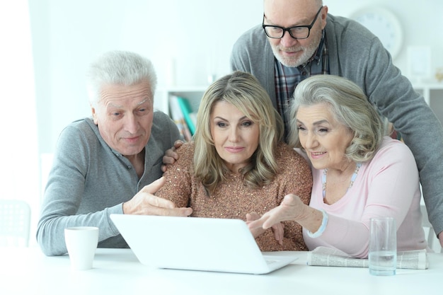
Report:
[[[297,25],[311,25],[318,12],[317,1],[312,0],[265,0],[265,25],[291,28]],[[307,62],[316,52],[321,40],[321,31],[326,26],[328,7],[323,6],[306,39],[294,39],[284,32],[281,39],[267,37],[275,58],[284,66],[299,66]]]

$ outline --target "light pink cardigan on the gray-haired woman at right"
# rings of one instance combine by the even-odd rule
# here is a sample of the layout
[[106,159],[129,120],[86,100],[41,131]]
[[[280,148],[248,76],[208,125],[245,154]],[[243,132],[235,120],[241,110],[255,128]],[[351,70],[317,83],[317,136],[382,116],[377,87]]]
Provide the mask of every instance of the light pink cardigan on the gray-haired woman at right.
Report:
[[318,238],[304,230],[309,250],[318,246],[338,248],[352,257],[367,258],[369,219],[393,216],[397,224],[397,248],[427,248],[420,212],[418,169],[412,152],[403,142],[385,137],[374,158],[362,164],[354,185],[334,204],[323,202],[321,175],[312,168],[310,206],[324,209],[329,220]]

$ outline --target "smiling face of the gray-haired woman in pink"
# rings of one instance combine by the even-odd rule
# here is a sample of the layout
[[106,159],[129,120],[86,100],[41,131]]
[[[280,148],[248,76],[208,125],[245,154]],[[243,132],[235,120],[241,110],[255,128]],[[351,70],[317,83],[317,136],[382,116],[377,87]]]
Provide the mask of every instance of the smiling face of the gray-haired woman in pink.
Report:
[[354,136],[349,128],[335,120],[328,104],[299,107],[297,129],[300,144],[314,168],[342,170],[347,167],[345,151]]

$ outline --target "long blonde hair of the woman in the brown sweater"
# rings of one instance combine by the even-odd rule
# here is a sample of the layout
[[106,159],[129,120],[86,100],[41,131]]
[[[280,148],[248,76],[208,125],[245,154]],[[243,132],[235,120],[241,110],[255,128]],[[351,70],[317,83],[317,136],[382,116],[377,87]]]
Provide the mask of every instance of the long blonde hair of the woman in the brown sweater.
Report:
[[282,139],[283,123],[265,89],[251,74],[235,71],[212,83],[200,102],[197,112],[194,175],[202,182],[208,194],[226,180],[229,172],[223,159],[217,154],[211,134],[210,117],[219,101],[231,103],[246,117],[259,125],[258,148],[250,163],[239,171],[243,183],[252,188],[269,184],[277,174],[275,151]]

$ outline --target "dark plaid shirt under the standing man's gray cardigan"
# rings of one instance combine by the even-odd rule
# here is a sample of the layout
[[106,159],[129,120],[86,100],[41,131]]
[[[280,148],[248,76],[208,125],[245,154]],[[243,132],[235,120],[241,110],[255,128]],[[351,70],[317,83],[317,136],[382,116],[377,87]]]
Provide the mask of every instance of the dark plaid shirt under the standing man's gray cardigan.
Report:
[[326,35],[323,31],[320,45],[316,54],[305,64],[297,67],[288,67],[275,59],[275,96],[277,98],[277,110],[284,122],[284,138],[289,132],[289,104],[297,85],[311,75],[329,74],[328,46]]

